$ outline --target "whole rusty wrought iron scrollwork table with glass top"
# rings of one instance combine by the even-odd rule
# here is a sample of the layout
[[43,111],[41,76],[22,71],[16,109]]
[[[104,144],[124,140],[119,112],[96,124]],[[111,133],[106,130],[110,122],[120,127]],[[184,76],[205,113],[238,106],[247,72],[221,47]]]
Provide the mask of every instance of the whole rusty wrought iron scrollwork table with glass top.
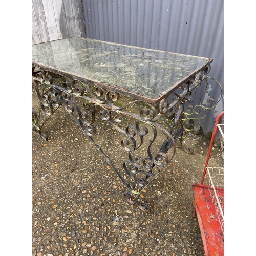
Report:
[[[178,139],[193,152],[182,144],[193,130],[191,120],[204,118],[218,103],[208,98],[202,104],[201,96],[196,106],[189,105],[203,82],[204,92],[208,88],[211,62],[81,37],[33,45],[32,87],[40,101],[37,112],[32,109],[33,130],[47,139],[42,127],[63,105],[123,182],[124,198],[148,211],[142,190],[172,160]],[[198,108],[205,113],[201,117]],[[94,140],[103,132],[96,120],[124,136],[119,145],[127,159],[118,168],[118,156],[106,155]]]

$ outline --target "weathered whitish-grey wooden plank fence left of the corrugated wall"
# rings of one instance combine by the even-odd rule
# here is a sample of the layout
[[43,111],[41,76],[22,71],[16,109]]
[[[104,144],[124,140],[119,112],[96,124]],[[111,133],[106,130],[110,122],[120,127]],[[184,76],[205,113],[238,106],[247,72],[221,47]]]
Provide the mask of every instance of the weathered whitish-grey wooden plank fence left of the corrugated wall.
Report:
[[32,0],[32,45],[85,36],[81,0]]

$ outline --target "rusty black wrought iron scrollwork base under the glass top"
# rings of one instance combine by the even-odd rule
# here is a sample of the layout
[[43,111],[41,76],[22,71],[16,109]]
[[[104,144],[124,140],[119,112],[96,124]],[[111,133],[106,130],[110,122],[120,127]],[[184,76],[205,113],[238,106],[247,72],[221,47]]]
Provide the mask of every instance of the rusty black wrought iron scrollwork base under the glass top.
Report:
[[[41,70],[36,76],[32,76],[32,84],[40,102],[38,113],[32,109],[33,130],[47,139],[47,136],[41,132],[42,127],[63,105],[123,182],[127,189],[124,193],[126,201],[136,204],[143,211],[148,211],[150,206],[139,197],[143,189],[154,181],[161,170],[172,160],[178,139],[182,146],[182,141],[191,131],[187,123],[196,118],[193,114],[198,113],[198,108],[207,112],[213,108],[208,103],[216,104],[212,99],[208,99],[207,106],[200,100],[199,105],[186,107],[202,81],[205,80],[206,88],[208,87],[210,77],[205,77],[205,73],[209,69],[207,67],[195,77],[187,80],[179,90],[166,96],[157,104],[124,98],[123,95],[101,88],[98,84],[59,74],[55,76],[61,82],[55,84],[55,78],[53,79],[51,74],[48,74],[49,72]],[[77,98],[83,102],[82,106],[77,103]],[[46,119],[39,124],[42,113],[46,115]],[[166,122],[163,118],[167,113],[172,116],[171,122]],[[123,161],[121,169],[115,166],[102,147],[94,141],[94,135],[97,133],[96,118],[110,123],[124,136],[120,141],[120,146],[126,152],[127,159]],[[129,123],[130,119],[133,123]],[[164,120],[166,127],[160,124],[161,120]],[[162,134],[161,138],[164,137],[160,142],[157,141],[158,133]],[[156,147],[156,144],[160,144],[159,147]],[[184,150],[188,153],[193,151],[185,148]]]

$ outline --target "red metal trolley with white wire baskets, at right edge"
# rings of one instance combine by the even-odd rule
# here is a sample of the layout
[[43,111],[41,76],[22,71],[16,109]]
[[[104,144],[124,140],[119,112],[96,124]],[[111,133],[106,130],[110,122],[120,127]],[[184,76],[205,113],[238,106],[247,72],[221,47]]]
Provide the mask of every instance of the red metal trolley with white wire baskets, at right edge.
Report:
[[[224,254],[224,167],[209,167],[208,162],[216,133],[222,136],[221,151],[224,160],[224,122],[221,112],[215,122],[210,146],[204,166],[202,181],[193,186],[195,212],[200,226],[206,256],[223,256]],[[223,116],[224,117],[224,116]]]

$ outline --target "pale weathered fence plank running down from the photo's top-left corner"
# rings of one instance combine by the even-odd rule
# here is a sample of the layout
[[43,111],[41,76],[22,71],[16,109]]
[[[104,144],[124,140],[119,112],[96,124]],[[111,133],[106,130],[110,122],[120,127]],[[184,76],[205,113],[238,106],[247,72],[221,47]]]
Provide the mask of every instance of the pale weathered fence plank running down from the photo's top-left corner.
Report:
[[[37,32],[40,38],[40,42],[47,42],[50,40],[48,27],[46,24],[46,16],[44,6],[41,0],[32,0],[32,9],[35,15],[35,23]],[[34,31],[32,30],[32,33]]]

